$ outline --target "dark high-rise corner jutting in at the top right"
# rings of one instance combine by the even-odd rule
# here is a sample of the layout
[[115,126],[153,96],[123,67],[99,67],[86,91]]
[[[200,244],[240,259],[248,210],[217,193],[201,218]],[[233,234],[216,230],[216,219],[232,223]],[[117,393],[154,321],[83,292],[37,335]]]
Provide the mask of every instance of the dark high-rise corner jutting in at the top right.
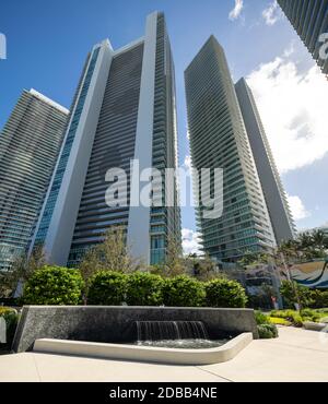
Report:
[[[321,48],[328,33],[328,0],[278,0],[282,11],[312,54],[323,72],[328,76],[328,55]],[[325,57],[320,56],[320,49]]]

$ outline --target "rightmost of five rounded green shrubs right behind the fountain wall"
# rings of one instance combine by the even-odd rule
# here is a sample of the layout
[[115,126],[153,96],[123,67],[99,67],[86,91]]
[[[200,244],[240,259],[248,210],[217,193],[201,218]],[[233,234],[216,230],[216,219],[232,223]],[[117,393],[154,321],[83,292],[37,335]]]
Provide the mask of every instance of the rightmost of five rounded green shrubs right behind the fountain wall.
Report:
[[245,289],[236,281],[213,280],[208,282],[204,287],[208,307],[241,308],[247,304]]

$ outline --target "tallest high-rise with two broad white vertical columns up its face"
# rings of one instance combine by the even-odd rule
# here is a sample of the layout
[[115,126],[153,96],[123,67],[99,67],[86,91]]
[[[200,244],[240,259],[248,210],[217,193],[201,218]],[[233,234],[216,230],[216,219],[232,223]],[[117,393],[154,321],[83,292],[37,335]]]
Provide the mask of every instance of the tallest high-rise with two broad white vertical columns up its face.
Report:
[[[106,39],[87,57],[33,242],[44,246],[49,261],[77,265],[113,226],[126,229],[134,258],[145,264],[164,261],[169,237],[180,239],[177,181],[172,207],[132,203],[139,178],[131,161],[140,171],[177,166],[174,64],[159,12],[148,16],[140,39],[118,50]],[[127,174],[126,205],[106,203],[112,168]]]

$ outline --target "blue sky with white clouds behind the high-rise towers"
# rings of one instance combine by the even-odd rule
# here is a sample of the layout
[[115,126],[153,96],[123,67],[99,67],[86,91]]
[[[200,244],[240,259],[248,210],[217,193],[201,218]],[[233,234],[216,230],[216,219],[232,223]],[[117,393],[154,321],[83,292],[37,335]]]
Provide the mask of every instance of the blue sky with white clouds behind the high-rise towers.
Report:
[[[34,87],[69,107],[91,47],[108,37],[118,48],[142,36],[147,14],[161,10],[176,67],[180,164],[189,155],[184,70],[214,34],[226,50],[234,80],[245,75],[255,91],[298,228],[328,222],[328,144],[323,134],[328,118],[317,112],[318,100],[327,99],[328,82],[273,1],[238,0],[234,15],[235,0],[1,3],[8,59],[0,60],[0,127],[23,88]],[[280,99],[291,107],[291,116]],[[191,209],[183,212],[183,227],[195,230]]]

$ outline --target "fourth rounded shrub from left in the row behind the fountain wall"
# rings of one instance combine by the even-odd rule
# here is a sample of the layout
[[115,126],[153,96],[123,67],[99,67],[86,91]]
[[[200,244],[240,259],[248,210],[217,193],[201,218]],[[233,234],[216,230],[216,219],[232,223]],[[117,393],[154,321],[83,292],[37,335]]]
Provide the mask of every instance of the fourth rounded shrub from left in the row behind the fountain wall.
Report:
[[179,275],[166,278],[163,285],[164,305],[168,307],[200,307],[204,304],[203,283]]

